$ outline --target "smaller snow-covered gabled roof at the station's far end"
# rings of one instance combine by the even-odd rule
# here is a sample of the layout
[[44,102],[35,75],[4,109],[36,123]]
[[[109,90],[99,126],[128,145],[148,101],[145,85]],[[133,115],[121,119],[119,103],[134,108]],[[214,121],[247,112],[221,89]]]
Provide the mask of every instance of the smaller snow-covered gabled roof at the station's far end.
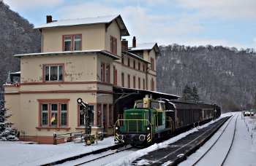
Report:
[[159,50],[159,47],[156,42],[153,43],[144,43],[144,44],[136,44],[136,47],[132,47],[132,44],[129,44],[128,51],[140,51],[140,50],[155,50],[157,52],[157,55],[161,56],[161,52]]

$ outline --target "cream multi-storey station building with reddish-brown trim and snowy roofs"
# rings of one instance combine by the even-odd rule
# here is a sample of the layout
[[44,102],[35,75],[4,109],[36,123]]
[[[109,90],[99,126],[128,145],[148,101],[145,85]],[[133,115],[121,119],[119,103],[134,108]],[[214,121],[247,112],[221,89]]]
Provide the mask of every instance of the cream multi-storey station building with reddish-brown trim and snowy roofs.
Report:
[[[13,114],[20,141],[53,143],[53,133],[84,131],[83,107],[92,111],[91,133],[113,135],[119,114],[146,94],[177,99],[157,92],[156,42],[137,44],[121,15],[52,20],[35,27],[42,33],[42,51],[20,58],[20,82],[4,85],[5,108]],[[11,80],[13,81],[13,80]],[[55,117],[53,122],[51,119]]]

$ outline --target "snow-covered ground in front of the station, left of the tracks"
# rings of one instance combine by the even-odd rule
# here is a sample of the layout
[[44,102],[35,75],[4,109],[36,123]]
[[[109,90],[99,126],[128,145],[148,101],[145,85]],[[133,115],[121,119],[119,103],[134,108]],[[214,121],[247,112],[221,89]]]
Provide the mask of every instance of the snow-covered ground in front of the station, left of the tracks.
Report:
[[97,149],[113,146],[113,138],[105,138],[91,146],[84,143],[61,143],[50,144],[24,144],[26,142],[4,142],[0,141],[0,165],[45,165],[68,157],[85,154]]

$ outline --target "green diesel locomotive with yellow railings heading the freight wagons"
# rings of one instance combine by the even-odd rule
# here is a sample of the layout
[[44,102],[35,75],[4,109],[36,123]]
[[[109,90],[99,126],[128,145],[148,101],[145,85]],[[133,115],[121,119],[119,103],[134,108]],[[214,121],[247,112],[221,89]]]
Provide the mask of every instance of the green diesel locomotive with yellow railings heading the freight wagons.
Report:
[[136,100],[134,108],[125,110],[123,116],[114,127],[116,143],[147,146],[173,132],[173,120],[166,116],[165,102],[152,100],[148,95]]

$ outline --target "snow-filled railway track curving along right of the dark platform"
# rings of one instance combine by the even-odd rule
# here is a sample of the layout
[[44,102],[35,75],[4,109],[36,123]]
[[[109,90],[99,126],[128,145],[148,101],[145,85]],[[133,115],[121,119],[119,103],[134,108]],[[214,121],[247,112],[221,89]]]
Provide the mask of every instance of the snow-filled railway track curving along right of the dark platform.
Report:
[[[236,119],[233,119],[236,116]],[[224,130],[222,130],[222,133],[219,135],[216,141],[210,146],[210,148],[199,158],[197,161],[193,164],[195,165],[204,165],[205,163],[208,163],[207,165],[224,165],[225,160],[227,159],[230,149],[233,146],[233,141],[236,134],[236,122],[238,119],[238,114],[234,115],[229,122],[227,123]],[[233,130],[232,130],[233,129]],[[230,135],[230,133],[233,133]],[[229,137],[230,139],[227,139],[225,137]],[[223,143],[222,139],[230,140],[229,143]],[[214,159],[215,157],[215,159]],[[209,161],[214,161],[214,163],[211,163]]]

